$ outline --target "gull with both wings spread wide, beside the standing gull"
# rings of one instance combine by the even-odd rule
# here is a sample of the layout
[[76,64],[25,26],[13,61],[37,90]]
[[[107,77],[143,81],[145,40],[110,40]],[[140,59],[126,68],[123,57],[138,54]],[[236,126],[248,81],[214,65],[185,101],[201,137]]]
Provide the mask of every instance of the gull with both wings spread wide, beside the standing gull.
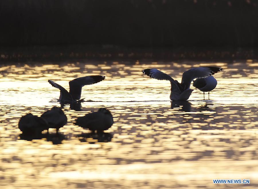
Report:
[[221,71],[221,67],[195,67],[185,71],[182,75],[181,83],[174,80],[171,76],[163,73],[155,68],[148,68],[142,70],[142,73],[154,79],[167,80],[171,84],[170,100],[172,101],[185,101],[188,100],[193,89],[190,89],[193,79],[208,77]]

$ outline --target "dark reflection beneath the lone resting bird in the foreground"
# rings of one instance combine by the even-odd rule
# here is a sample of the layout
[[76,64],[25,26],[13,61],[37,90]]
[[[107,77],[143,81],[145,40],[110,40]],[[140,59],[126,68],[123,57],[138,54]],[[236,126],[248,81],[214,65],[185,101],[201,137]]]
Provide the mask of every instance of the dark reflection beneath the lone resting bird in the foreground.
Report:
[[82,133],[77,135],[81,142],[89,142],[89,144],[95,144],[95,142],[110,142],[113,138],[112,133]]

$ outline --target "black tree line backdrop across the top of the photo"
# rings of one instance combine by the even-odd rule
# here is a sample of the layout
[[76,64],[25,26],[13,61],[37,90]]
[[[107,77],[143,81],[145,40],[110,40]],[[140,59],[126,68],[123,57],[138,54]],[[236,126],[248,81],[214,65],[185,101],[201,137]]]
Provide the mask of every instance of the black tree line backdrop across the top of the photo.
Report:
[[255,0],[0,1],[0,45],[250,47]]

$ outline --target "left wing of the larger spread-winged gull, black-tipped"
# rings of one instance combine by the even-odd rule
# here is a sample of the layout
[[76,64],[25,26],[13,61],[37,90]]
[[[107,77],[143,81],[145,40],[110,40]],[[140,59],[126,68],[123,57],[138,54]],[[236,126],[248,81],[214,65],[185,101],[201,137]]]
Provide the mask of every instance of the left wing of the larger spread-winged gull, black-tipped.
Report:
[[148,68],[148,69],[142,70],[142,73],[154,79],[170,81],[172,88],[178,89],[179,91],[181,91],[180,85],[177,81],[175,81],[170,75],[167,75],[166,73],[159,71],[158,69]]

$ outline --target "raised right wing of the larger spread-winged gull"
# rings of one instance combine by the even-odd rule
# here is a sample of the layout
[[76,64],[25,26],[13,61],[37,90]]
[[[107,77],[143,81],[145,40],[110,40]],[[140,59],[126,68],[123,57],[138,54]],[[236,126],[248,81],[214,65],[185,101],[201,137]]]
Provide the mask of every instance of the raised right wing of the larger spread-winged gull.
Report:
[[208,77],[221,71],[221,67],[195,67],[185,71],[182,75],[181,85],[189,88],[193,79]]

